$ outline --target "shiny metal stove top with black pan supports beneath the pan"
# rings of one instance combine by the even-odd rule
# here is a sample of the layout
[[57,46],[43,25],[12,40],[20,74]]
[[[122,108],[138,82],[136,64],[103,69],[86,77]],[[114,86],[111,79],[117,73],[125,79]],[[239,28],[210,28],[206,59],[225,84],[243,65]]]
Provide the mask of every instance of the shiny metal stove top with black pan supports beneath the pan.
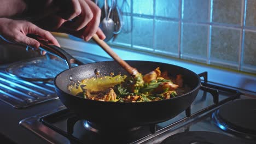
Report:
[[[50,143],[166,143],[170,140],[171,142],[176,139],[182,140],[183,138],[178,137],[184,136],[194,138],[191,138],[191,141],[179,142],[255,143],[254,137],[229,133],[223,128],[224,125],[219,125],[214,120],[214,113],[225,105],[241,100],[241,93],[235,89],[207,82],[206,72],[199,75],[204,77],[204,80],[193,104],[166,122],[125,130],[113,130],[110,126],[104,129],[84,119],[79,119],[65,106],[61,106],[54,111],[23,119],[20,125]],[[216,139],[209,140],[208,137],[216,137]],[[226,140],[218,141],[217,137]]]

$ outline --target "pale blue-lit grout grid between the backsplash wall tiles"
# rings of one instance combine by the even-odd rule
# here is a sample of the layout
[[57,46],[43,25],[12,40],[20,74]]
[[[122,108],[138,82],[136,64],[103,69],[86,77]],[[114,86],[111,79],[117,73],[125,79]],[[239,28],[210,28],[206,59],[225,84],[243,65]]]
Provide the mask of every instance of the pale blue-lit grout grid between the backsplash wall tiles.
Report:
[[[178,18],[170,18],[170,17],[161,17],[156,15],[156,2],[157,0],[153,0],[153,15],[144,15],[144,14],[133,14],[133,1],[131,1],[131,13],[127,15],[131,15],[131,23],[132,25],[134,24],[134,17],[144,17],[148,19],[153,19],[153,52],[156,52],[156,20],[167,20],[167,21],[173,21],[173,22],[179,22],[179,27],[178,27],[178,58],[182,58],[182,50],[183,50],[183,25],[184,23],[192,23],[194,25],[205,25],[208,26],[208,32],[207,32],[207,58],[206,58],[206,63],[210,64],[211,63],[211,49],[212,49],[212,28],[213,27],[222,27],[222,28],[227,28],[227,29],[237,29],[240,31],[240,44],[238,46],[238,70],[241,71],[241,65],[243,63],[243,52],[244,52],[244,47],[245,47],[245,32],[246,31],[252,31],[256,32],[255,27],[248,27],[246,26],[246,11],[247,11],[247,0],[241,1],[241,23],[240,25],[232,25],[228,23],[218,23],[218,22],[213,22],[213,0],[209,0],[208,4],[208,22],[193,22],[189,20],[183,20],[184,18],[184,0],[179,0],[179,17]],[[131,34],[131,47],[133,47],[134,43],[134,38],[133,35]]]

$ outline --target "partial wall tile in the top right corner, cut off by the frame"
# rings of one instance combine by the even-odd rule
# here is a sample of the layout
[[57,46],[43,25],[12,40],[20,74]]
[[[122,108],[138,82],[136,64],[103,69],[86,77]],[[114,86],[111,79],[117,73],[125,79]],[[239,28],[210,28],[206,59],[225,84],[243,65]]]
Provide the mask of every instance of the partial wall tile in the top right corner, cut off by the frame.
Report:
[[247,0],[246,5],[246,26],[256,26],[256,1],[255,0]]

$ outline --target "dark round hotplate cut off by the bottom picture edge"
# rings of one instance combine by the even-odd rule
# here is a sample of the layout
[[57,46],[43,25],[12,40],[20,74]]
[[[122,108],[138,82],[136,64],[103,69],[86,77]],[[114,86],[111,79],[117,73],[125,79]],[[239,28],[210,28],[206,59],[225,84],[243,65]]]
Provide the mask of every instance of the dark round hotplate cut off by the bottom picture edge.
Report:
[[188,131],[184,133],[174,134],[167,137],[161,144],[219,144],[233,143],[245,144],[245,141],[234,139],[224,134],[213,133],[209,131]]

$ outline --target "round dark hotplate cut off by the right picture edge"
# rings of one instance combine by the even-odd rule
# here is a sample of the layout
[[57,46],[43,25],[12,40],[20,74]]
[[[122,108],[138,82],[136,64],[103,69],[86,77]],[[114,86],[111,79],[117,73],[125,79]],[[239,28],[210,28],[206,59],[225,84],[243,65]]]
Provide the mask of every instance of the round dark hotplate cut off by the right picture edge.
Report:
[[213,119],[224,131],[247,139],[256,139],[256,99],[235,100],[213,113]]

